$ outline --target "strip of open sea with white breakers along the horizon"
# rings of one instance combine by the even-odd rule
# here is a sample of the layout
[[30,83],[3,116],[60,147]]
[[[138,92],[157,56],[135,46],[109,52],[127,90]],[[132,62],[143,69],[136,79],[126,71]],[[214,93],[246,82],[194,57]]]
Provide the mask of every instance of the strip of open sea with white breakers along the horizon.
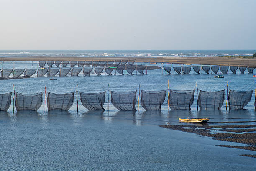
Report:
[[0,50],[4,57],[156,57],[156,56],[249,56],[256,50]]

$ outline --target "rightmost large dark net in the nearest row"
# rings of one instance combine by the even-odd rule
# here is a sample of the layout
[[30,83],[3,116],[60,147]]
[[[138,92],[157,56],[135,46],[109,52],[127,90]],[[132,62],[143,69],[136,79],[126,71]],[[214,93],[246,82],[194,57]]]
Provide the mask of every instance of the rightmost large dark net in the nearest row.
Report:
[[228,108],[229,110],[243,109],[251,101],[253,90],[251,91],[234,91],[229,90]]

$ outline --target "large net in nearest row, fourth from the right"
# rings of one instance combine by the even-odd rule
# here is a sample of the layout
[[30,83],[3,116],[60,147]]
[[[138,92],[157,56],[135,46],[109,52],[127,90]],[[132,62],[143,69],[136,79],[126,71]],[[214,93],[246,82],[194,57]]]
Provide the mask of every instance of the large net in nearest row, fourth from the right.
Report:
[[161,110],[164,103],[166,90],[144,91],[141,90],[141,106],[145,110]]

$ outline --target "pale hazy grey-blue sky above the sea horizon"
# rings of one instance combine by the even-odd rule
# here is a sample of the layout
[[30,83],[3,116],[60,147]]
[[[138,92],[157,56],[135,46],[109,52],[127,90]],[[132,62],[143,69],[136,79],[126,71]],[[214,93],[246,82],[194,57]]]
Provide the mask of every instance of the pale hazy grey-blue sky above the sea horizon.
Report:
[[256,49],[256,0],[0,0],[0,49]]

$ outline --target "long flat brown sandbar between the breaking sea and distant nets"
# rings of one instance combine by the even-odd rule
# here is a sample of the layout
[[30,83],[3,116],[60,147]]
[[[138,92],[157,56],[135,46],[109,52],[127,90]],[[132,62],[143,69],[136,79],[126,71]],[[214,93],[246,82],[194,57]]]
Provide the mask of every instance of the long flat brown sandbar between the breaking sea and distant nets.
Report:
[[173,64],[204,64],[204,65],[234,65],[234,66],[256,66],[256,58],[243,57],[151,57],[151,58],[126,58],[126,57],[49,57],[49,56],[35,56],[35,57],[6,57],[1,58],[1,61],[114,61],[123,59],[135,59],[139,62],[157,62],[157,63],[173,63]]

